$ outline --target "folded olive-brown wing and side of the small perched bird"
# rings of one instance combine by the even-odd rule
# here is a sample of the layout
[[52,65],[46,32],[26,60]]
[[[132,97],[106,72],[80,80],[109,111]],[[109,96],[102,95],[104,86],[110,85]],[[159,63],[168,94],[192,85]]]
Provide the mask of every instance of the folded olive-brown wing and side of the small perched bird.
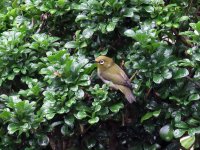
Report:
[[114,84],[124,85],[131,88],[131,83],[125,72],[117,65],[114,64],[108,70],[101,72],[100,76]]

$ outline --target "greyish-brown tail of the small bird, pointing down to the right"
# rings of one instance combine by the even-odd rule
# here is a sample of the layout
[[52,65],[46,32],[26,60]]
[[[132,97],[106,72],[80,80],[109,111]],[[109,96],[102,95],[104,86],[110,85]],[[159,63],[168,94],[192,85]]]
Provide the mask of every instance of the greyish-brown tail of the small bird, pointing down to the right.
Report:
[[125,95],[129,103],[133,103],[134,101],[136,101],[135,96],[133,95],[133,92],[130,90],[130,88],[123,85],[117,85],[117,87]]

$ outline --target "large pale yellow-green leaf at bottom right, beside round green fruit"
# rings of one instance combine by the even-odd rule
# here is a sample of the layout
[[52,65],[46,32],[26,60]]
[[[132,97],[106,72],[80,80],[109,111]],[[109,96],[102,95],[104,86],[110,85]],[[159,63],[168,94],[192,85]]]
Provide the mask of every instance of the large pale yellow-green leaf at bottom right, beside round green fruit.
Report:
[[180,139],[181,146],[189,149],[195,142],[195,136],[185,136]]

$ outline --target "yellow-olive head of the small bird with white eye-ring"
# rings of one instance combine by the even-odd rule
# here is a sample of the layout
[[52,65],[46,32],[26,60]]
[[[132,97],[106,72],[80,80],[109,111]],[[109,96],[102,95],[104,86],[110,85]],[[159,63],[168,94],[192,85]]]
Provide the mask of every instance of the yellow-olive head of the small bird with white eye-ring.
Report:
[[113,59],[107,56],[99,56],[95,59],[95,62],[97,63],[97,67],[102,70],[106,70],[114,64]]

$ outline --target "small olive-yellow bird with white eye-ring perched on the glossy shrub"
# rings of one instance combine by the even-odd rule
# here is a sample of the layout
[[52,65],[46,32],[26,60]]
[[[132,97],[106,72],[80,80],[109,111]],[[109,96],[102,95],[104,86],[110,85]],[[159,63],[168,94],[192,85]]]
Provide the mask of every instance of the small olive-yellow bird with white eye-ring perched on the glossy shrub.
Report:
[[95,62],[97,63],[98,76],[104,83],[116,90],[120,90],[129,103],[135,101],[129,78],[112,58],[99,56],[95,59]]

